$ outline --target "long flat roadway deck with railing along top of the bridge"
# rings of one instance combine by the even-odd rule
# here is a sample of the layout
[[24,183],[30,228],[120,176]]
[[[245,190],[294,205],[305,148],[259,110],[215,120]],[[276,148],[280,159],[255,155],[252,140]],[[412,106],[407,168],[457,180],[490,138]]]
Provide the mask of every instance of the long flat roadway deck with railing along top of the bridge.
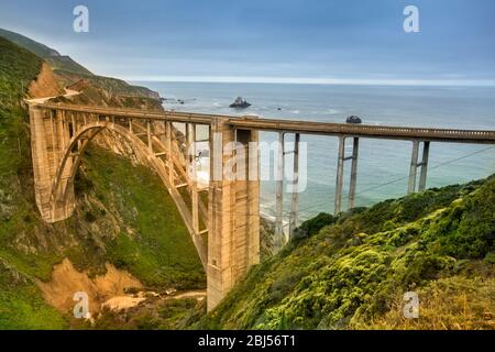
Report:
[[350,124],[297,121],[283,119],[264,119],[255,117],[232,117],[208,113],[191,113],[178,111],[144,111],[140,109],[122,109],[92,106],[74,106],[61,103],[41,103],[46,109],[75,112],[97,113],[102,116],[164,120],[174,122],[191,122],[210,124],[213,118],[227,118],[237,129],[253,129],[273,132],[290,132],[304,134],[344,135],[388,140],[421,140],[432,142],[481,143],[495,144],[494,130],[455,130],[436,128],[408,128],[389,125]]

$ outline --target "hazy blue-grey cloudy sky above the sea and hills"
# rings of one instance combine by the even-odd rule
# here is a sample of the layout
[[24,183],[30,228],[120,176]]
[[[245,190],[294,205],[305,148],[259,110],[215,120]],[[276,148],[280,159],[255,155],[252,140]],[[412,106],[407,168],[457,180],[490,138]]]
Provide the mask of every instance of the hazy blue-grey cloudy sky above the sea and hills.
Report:
[[495,82],[493,0],[2,0],[0,28],[132,80]]

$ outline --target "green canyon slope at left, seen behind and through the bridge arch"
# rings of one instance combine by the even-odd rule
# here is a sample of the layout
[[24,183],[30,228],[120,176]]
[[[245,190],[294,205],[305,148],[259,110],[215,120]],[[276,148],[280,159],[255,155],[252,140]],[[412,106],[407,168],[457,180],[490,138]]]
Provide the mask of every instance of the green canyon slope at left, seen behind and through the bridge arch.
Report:
[[42,66],[41,58],[0,37],[0,329],[74,323],[44,296],[72,300],[74,293],[57,292],[52,277],[64,260],[89,279],[103,277],[112,265],[158,293],[204,288],[202,265],[160,178],[113,153],[92,147],[77,175],[74,216],[54,224],[42,221],[21,103]]

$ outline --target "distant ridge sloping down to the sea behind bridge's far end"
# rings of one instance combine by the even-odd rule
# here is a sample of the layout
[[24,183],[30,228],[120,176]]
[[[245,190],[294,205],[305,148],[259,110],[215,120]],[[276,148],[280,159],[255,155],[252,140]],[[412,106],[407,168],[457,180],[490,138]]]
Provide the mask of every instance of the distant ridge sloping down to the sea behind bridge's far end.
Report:
[[65,86],[74,85],[80,79],[87,79],[91,81],[95,87],[105,89],[112,95],[145,97],[155,100],[160,99],[157,92],[146,87],[132,86],[121,79],[94,75],[87,68],[73,61],[69,56],[61,55],[54,48],[19,33],[0,29],[0,36],[24,47],[46,61]]

